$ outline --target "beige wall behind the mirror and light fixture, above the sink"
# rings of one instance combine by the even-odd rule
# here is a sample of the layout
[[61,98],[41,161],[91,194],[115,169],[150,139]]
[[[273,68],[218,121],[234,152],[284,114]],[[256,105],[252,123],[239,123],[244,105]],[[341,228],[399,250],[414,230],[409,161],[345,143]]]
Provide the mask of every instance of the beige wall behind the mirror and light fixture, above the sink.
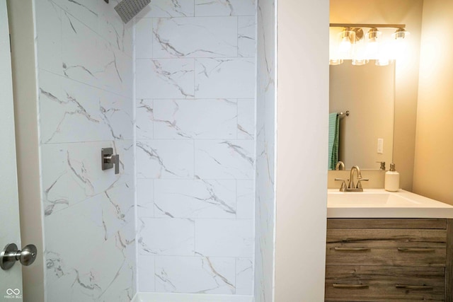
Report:
[[394,163],[401,174],[401,187],[410,191],[415,152],[422,9],[423,0],[331,0],[331,23],[398,23],[406,24],[407,30],[411,32],[411,39],[408,40],[411,52],[407,53],[405,59],[396,62],[394,122]]

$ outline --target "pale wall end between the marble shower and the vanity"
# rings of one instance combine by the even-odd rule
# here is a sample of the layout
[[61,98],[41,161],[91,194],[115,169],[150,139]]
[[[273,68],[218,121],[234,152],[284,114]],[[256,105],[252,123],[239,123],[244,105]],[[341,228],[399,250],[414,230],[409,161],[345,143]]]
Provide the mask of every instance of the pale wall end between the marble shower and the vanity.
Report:
[[280,0],[277,17],[275,301],[323,301],[328,0]]

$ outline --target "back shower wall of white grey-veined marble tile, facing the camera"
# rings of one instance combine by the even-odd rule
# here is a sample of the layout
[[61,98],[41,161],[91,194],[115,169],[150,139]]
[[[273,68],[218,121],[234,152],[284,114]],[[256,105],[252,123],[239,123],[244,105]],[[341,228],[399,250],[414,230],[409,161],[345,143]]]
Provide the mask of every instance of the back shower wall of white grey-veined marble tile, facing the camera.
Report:
[[135,24],[139,291],[253,294],[255,0]]

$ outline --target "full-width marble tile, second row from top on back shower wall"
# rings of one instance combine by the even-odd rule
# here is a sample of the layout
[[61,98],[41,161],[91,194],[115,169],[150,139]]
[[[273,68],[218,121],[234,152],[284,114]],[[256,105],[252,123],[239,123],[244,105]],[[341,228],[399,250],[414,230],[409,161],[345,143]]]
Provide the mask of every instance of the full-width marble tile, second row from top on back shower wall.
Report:
[[156,18],[153,55],[171,57],[235,57],[236,17]]

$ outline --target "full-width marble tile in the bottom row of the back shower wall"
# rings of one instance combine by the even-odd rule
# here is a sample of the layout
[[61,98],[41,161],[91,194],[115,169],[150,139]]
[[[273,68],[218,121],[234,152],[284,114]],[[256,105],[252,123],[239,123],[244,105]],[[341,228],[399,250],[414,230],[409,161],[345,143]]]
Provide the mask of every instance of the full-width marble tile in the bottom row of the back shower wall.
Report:
[[234,258],[156,256],[156,291],[234,294]]

